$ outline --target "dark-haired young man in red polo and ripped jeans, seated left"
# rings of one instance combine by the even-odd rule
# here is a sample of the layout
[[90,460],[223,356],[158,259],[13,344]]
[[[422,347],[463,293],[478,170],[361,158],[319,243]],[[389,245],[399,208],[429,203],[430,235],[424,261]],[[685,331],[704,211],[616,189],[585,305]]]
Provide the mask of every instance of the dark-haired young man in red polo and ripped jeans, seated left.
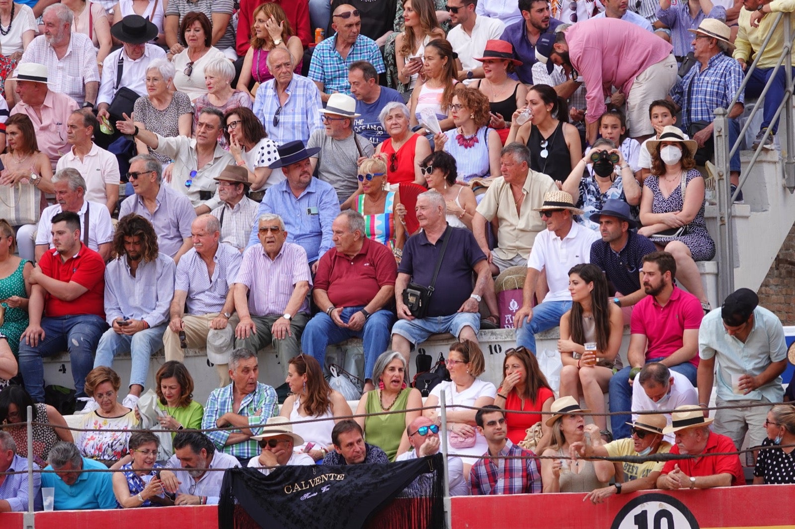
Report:
[[[80,241],[80,217],[52,217],[52,244],[30,272],[30,322],[19,344],[19,368],[33,402],[45,401],[43,357],[69,351],[77,396],[94,366],[105,322],[105,262]],[[79,404],[80,405],[80,404]]]

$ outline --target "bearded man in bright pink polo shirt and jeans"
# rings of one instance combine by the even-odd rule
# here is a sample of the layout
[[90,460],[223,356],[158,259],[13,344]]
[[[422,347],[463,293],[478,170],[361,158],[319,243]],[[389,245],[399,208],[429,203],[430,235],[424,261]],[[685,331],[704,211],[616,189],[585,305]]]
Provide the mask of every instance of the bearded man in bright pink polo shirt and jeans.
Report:
[[[630,346],[624,369],[610,380],[610,411],[630,411],[630,384],[648,362],[660,362],[688,377],[696,385],[698,330],[704,309],[695,295],[673,284],[677,262],[668,252],[643,257],[643,289],[646,297],[635,304],[630,322]],[[615,438],[630,436],[630,415],[611,415]]]

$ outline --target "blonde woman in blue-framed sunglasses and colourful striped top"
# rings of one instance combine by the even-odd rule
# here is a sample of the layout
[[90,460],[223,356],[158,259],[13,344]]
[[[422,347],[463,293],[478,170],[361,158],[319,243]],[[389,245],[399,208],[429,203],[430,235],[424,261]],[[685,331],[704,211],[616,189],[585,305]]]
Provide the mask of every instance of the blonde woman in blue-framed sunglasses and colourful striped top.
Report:
[[386,245],[400,261],[405,242],[405,226],[400,222],[397,207],[400,192],[389,191],[386,163],[380,158],[367,158],[359,165],[359,192],[354,209],[364,217],[365,237]]

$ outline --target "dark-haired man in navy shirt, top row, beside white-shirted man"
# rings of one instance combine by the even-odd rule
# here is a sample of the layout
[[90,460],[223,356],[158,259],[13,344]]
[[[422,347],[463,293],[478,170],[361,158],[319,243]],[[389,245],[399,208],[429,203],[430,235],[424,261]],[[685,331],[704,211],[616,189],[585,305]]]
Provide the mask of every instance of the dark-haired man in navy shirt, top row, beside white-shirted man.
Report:
[[533,84],[533,64],[536,59],[536,43],[544,33],[554,33],[563,22],[551,17],[547,0],[519,0],[519,10],[524,20],[506,27],[501,41],[514,46],[514,59],[521,60],[516,75],[522,83]]

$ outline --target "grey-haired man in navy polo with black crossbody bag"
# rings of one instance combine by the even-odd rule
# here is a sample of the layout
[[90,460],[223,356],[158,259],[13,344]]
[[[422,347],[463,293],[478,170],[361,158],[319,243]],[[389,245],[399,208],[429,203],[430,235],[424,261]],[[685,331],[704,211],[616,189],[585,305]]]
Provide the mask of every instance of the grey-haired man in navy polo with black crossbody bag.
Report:
[[[397,323],[392,328],[392,349],[409,361],[412,345],[431,334],[450,333],[460,342],[478,342],[479,303],[491,280],[491,270],[483,250],[470,230],[451,228],[444,218],[444,197],[425,191],[417,197],[417,221],[421,233],[409,237],[403,258],[397,267],[395,299]],[[429,287],[445,238],[450,237],[436,277],[434,292],[424,319],[417,319],[403,303],[403,291],[409,282]],[[472,272],[477,274],[472,288]]]

